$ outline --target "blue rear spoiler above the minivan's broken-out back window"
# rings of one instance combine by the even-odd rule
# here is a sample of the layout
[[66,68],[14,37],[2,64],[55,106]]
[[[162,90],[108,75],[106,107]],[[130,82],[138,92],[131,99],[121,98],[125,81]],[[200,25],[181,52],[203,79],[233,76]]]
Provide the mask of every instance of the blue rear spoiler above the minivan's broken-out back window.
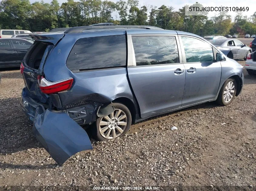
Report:
[[30,34],[29,36],[32,39],[45,42],[45,43],[52,43],[53,45],[57,44],[59,40],[64,37],[65,34],[63,33],[43,33],[43,34]]

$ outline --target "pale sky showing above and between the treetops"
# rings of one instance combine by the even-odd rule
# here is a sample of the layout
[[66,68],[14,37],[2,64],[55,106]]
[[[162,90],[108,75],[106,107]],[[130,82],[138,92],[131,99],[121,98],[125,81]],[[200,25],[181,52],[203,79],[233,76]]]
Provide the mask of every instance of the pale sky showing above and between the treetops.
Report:
[[[36,1],[41,1],[41,0],[30,0],[31,3],[36,2]],[[46,3],[50,3],[52,0],[44,0],[44,2]],[[75,0],[77,1],[77,0]],[[102,0],[103,1],[103,0]],[[113,2],[117,2],[118,0],[112,0]],[[66,2],[66,0],[58,0],[59,4],[61,5],[63,2]],[[185,1],[181,1],[181,0],[172,0],[172,1],[168,1],[168,0],[139,0],[139,7],[146,5],[148,7],[148,14],[150,12],[150,5],[154,5],[157,7],[161,7],[161,5],[166,5],[166,6],[172,6],[174,7],[174,11],[178,11],[179,8],[182,8],[185,5],[193,5],[195,2],[201,3],[203,6],[205,7],[248,7],[249,11],[243,11],[242,15],[245,16],[247,15],[247,17],[250,17],[254,12],[255,12],[255,8],[253,7],[253,3],[244,3],[244,1],[241,0],[214,0],[214,1],[209,1],[209,0],[201,0],[201,1],[197,1],[197,0],[185,0]],[[208,18],[214,17],[216,14],[216,12],[209,12],[208,14]],[[232,16],[232,20],[234,21],[234,17],[236,15],[236,12],[231,11],[228,12],[228,14],[230,14]],[[113,19],[116,19],[115,16],[116,13],[112,14]],[[118,18],[117,18],[118,19]]]

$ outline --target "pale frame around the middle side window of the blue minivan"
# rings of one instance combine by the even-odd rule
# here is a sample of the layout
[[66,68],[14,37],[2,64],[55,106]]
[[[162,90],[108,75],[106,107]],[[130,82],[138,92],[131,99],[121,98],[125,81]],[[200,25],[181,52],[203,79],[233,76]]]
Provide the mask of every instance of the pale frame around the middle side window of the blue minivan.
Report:
[[[152,36],[162,36],[162,37],[175,37],[177,48],[178,48],[178,55],[179,55],[179,62],[178,63],[168,63],[168,64],[155,64],[155,65],[136,65],[135,59],[135,52],[132,43],[132,37],[152,37]],[[127,49],[128,49],[128,59],[127,59],[127,67],[145,67],[145,66],[160,66],[160,65],[174,65],[174,64],[182,64],[182,54],[181,54],[181,47],[180,41],[178,39],[177,34],[127,34]]]

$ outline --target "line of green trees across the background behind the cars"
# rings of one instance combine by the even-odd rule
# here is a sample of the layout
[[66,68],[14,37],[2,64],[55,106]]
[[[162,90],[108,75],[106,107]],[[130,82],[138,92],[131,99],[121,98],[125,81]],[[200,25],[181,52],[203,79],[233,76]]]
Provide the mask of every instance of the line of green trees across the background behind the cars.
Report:
[[250,17],[237,12],[234,22],[231,15],[185,15],[185,6],[174,7],[143,5],[138,0],[67,0],[59,5],[29,0],[2,0],[0,3],[0,29],[49,31],[52,28],[86,26],[112,22],[121,25],[151,25],[168,30],[181,30],[200,36],[214,34],[256,34],[256,12]]

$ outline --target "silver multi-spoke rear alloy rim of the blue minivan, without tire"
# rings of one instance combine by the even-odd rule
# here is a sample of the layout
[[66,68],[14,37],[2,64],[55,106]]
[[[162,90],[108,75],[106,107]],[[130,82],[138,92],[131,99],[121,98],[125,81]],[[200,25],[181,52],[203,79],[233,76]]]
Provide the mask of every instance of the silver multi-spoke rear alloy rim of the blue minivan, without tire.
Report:
[[124,111],[115,109],[111,114],[102,117],[99,123],[99,132],[102,137],[113,139],[119,137],[127,125],[127,116]]

